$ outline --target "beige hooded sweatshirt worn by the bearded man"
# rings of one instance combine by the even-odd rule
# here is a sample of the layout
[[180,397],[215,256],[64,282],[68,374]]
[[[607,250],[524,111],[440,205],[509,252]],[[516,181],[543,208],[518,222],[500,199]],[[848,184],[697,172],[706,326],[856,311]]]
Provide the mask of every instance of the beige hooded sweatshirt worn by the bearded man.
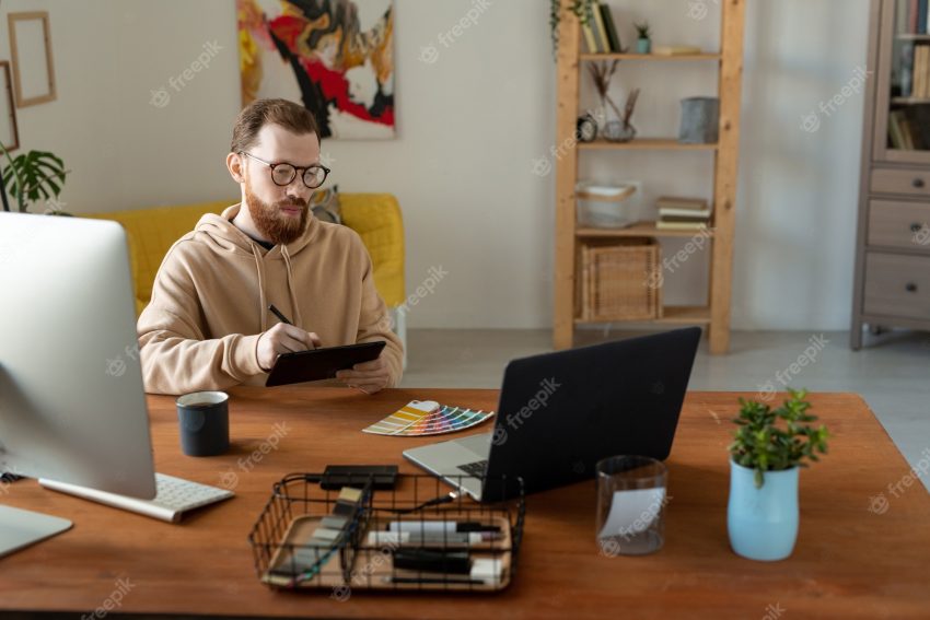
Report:
[[385,340],[396,386],[403,346],[358,233],[311,214],[303,236],[266,250],[232,223],[239,209],[204,215],[162,261],[137,326],[146,391],[264,385],[256,348],[278,323],[269,304],[323,347]]

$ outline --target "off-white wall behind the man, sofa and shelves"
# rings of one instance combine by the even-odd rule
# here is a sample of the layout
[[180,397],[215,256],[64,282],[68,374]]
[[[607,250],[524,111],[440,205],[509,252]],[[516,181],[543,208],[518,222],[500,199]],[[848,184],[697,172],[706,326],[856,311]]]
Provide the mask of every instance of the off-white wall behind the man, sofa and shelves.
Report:
[[[656,43],[712,47],[711,14],[687,0],[612,0],[649,17]],[[864,62],[868,0],[749,0],[734,269],[734,326],[847,327],[851,299],[861,93],[809,133],[801,116]],[[431,267],[449,274],[410,314],[411,327],[548,327],[554,175],[532,163],[555,142],[548,2],[491,0],[462,36],[449,32],[474,0],[396,0],[397,139],[325,141],[344,191],[390,191],[404,208],[408,289]],[[240,107],[232,0],[4,0],[0,12],[48,10],[58,101],[18,110],[21,142],[61,155],[61,197],[75,212],[235,198],[223,167]],[[9,57],[5,19],[0,57]],[[661,25],[661,27],[659,27]],[[624,26],[625,39],[631,39]],[[206,44],[220,50],[181,91],[168,86]],[[439,51],[435,62],[422,49]],[[28,60],[27,60],[28,62]],[[672,133],[677,100],[712,94],[712,68],[674,78],[627,63],[641,85],[640,134]],[[586,81],[586,79],[585,79]],[[586,87],[586,86],[585,86]],[[150,103],[166,89],[164,107]],[[588,96],[588,95],[585,95]],[[594,100],[582,102],[591,105]],[[672,129],[666,129],[672,126]],[[588,156],[588,155],[584,155]],[[648,194],[709,192],[699,153],[612,153],[582,161],[592,176],[647,182]],[[590,167],[585,167],[590,166]],[[672,171],[674,174],[669,174]],[[673,303],[701,301],[706,273],[670,277]]]

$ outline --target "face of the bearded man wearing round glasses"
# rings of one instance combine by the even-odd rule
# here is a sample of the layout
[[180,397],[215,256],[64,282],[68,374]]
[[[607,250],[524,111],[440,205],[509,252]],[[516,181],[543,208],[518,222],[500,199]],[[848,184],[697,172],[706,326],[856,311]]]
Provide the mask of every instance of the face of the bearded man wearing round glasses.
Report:
[[[289,163],[299,168],[319,163],[319,140],[313,133],[299,136],[279,125],[266,125],[258,141],[248,150],[272,164]],[[303,169],[287,186],[271,180],[271,168],[242,155],[244,192],[255,229],[275,244],[289,244],[306,230],[313,190],[303,183]]]

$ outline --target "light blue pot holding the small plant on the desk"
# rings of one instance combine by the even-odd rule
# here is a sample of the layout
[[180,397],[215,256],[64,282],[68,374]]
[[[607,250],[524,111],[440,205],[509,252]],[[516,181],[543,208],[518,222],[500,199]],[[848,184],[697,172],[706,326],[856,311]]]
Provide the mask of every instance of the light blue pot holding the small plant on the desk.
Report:
[[798,540],[798,471],[766,471],[765,484],[756,489],[755,470],[730,461],[726,530],[733,551],[765,562],[791,555]]

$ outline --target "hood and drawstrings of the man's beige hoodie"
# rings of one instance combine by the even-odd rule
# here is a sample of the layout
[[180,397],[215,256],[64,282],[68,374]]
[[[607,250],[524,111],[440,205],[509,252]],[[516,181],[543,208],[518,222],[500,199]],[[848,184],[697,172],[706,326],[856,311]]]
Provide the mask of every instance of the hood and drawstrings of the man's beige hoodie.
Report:
[[197,225],[194,227],[194,238],[200,243],[205,243],[218,254],[233,254],[251,256],[255,261],[255,272],[258,277],[258,316],[261,317],[261,331],[268,329],[268,297],[265,291],[266,273],[265,262],[268,260],[283,260],[287,270],[288,293],[291,297],[291,306],[294,308],[295,316],[292,317],[294,325],[302,325],[303,317],[300,314],[300,304],[298,304],[297,291],[294,289],[294,274],[291,266],[291,258],[298,255],[305,248],[319,233],[319,221],[313,215],[313,211],[307,214],[306,229],[303,234],[293,242],[281,245],[278,244],[269,250],[258,245],[252,237],[242,232],[239,226],[233,224],[232,220],[239,214],[242,209],[242,203],[233,204],[223,210],[220,215],[216,213],[207,213]]

